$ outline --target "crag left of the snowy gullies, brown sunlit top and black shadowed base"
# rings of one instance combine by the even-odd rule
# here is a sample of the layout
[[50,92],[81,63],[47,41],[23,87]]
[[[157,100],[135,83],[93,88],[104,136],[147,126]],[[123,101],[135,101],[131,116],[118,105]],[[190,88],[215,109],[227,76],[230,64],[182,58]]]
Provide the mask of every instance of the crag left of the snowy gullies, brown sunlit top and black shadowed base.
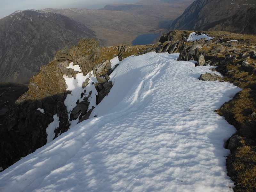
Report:
[[66,88],[57,65],[44,66],[31,78],[28,92],[7,112],[0,129],[0,164],[4,169],[46,144],[46,128],[53,122],[53,115],[60,119],[61,132],[68,130]]

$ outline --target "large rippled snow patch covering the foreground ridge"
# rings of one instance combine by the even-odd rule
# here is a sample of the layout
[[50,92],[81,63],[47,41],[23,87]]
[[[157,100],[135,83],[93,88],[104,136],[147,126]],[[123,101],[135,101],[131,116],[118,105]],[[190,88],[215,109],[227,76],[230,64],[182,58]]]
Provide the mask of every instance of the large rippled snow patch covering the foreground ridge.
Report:
[[91,118],[1,172],[0,191],[233,191],[224,142],[235,128],[214,109],[240,89],[177,58],[119,62]]

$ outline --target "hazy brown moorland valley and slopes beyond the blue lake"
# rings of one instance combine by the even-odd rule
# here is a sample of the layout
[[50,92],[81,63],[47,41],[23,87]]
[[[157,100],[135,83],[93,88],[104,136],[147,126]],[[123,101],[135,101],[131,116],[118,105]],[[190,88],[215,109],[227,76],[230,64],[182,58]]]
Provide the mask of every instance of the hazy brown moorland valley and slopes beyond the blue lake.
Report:
[[132,43],[137,36],[147,33],[162,35],[170,21],[179,17],[189,4],[145,0],[136,4],[110,4],[99,10],[70,8],[45,11],[84,23],[95,31],[98,38],[107,40],[106,45],[114,46]]

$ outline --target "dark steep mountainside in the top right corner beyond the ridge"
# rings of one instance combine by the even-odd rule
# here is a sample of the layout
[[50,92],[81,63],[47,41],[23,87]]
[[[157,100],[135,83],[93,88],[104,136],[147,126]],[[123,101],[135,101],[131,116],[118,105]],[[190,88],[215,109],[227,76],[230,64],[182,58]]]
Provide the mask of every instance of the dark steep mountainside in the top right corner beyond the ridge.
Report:
[[223,30],[256,34],[255,0],[196,0],[169,30]]

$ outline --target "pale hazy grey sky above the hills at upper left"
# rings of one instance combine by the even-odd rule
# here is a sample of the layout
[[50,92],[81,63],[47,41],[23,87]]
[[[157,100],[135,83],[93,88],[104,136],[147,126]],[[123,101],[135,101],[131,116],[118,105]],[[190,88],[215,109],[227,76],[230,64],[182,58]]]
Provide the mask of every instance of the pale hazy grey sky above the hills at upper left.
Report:
[[107,4],[136,3],[139,0],[0,0],[0,19],[17,10],[44,8],[99,9]]

